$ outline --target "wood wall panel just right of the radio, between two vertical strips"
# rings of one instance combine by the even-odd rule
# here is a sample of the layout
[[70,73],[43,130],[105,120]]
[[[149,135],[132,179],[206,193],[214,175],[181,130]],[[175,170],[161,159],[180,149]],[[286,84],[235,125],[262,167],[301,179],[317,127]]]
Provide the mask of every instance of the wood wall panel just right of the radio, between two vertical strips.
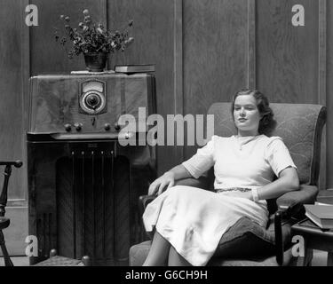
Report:
[[183,1],[184,114],[206,114],[248,86],[248,20],[247,0]]

